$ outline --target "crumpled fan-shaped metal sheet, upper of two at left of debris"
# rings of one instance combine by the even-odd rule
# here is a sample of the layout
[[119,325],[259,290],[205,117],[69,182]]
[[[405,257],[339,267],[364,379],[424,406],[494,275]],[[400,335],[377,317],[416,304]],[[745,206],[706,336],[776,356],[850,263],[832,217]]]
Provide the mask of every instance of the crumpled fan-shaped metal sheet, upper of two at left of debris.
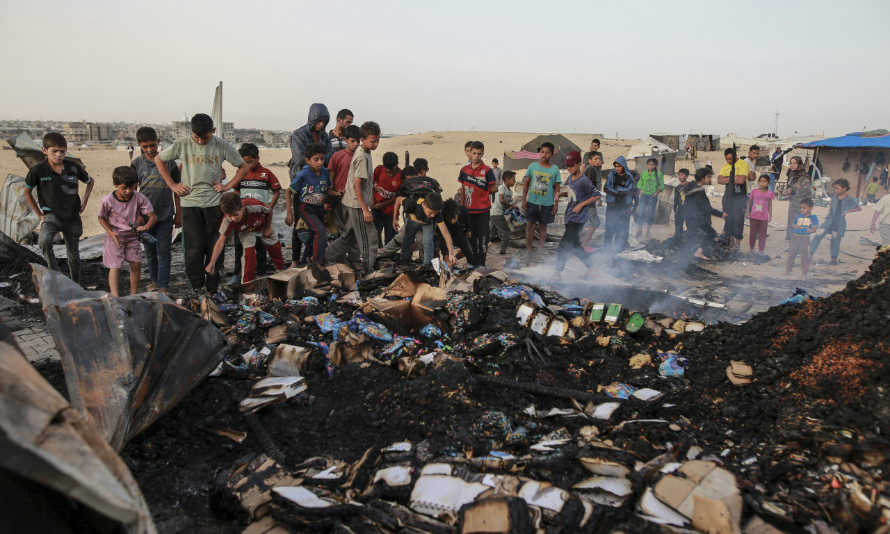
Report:
[[230,351],[219,329],[166,295],[86,291],[61,272],[32,267],[71,404],[116,450]]

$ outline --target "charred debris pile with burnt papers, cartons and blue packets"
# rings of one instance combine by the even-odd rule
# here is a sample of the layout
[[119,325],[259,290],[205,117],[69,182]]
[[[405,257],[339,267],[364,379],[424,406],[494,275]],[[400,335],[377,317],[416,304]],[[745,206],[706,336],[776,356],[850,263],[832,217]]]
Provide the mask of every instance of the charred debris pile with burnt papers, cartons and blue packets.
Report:
[[503,271],[283,271],[191,295],[231,354],[122,455],[162,531],[886,531],[888,275],[885,247],[708,325]]

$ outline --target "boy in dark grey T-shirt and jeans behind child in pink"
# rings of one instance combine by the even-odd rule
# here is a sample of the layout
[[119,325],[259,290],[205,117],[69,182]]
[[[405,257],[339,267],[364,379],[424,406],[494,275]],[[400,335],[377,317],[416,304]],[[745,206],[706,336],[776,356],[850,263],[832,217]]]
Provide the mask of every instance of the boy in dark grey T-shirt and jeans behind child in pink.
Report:
[[[136,130],[136,142],[142,150],[142,155],[135,158],[130,166],[139,179],[140,192],[149,198],[151,208],[158,217],[158,223],[148,231],[158,241],[142,244],[151,279],[147,289],[169,293],[170,247],[173,241],[173,229],[182,226],[180,213],[182,208],[179,206],[179,195],[166,186],[158,172],[158,166],[155,165],[155,157],[158,156],[158,133],[151,126],[142,126]],[[175,161],[166,162],[166,170],[174,183],[180,182],[179,166]]]

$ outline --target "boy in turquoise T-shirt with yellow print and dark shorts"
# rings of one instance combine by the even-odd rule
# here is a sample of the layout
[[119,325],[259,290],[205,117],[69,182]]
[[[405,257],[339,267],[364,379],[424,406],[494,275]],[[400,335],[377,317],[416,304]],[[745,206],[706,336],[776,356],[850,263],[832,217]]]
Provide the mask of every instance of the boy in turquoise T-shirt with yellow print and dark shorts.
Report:
[[559,169],[550,163],[554,155],[552,142],[544,142],[538,149],[540,163],[532,163],[525,171],[522,181],[522,209],[526,210],[525,220],[525,263],[531,263],[531,246],[535,239],[535,226],[538,227],[538,255],[541,261],[544,242],[547,239],[547,224],[554,222],[559,209],[559,184],[562,181]]

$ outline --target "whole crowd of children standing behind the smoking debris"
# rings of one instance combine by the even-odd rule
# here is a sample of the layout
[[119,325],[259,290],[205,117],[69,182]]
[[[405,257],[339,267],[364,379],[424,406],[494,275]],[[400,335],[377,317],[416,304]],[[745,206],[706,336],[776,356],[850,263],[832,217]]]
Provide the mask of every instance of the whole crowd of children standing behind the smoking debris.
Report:
[[[457,195],[443,199],[441,186],[427,175],[429,165],[423,158],[415,159],[413,165],[406,161],[402,169],[398,156],[387,152],[383,164],[374,166],[372,152],[380,140],[376,122],[352,125],[352,112],[344,109],[337,115],[336,128],[328,133],[328,120],[328,109],[313,104],[307,125],[291,138],[292,150],[299,150],[293,152],[285,193],[285,222],[294,226],[292,266],[349,262],[368,273],[375,268],[378,255],[398,256],[404,263],[411,261],[415,248],[420,250],[423,263],[441,254],[451,265],[463,257],[470,265],[485,266],[491,242],[499,241],[498,254],[507,254],[511,219],[516,217],[526,223],[525,261],[531,263],[535,233],[535,258],[540,261],[548,226],[562,212],[564,232],[556,250],[554,279],[561,278],[570,255],[578,257],[589,274],[594,263],[591,254],[596,249],[588,242],[601,225],[597,207],[605,202],[603,251],[614,255],[627,247],[632,217],[636,235],[642,235],[645,226],[645,235],[650,236],[665,190],[657,158],[648,159],[646,169],[637,174],[619,156],[611,172],[603,177],[599,140],[591,142],[583,158],[577,150],[565,155],[568,176],[563,179],[559,166],[551,163],[554,145],[544,142],[538,150],[538,161],[523,175],[522,195],[517,198],[514,171],[504,171],[497,159],[491,166],[486,165],[482,160],[485,147],[474,141],[465,144],[467,162],[457,175]],[[230,235],[236,247],[230,283],[247,283],[262,274],[267,254],[275,269],[286,267],[271,216],[281,185],[275,174],[260,164],[258,148],[248,142],[236,149],[214,136],[213,121],[204,114],[192,117],[191,129],[192,134],[159,151],[155,130],[140,128],[136,142],[142,155],[112,174],[114,190],[101,198],[98,218],[106,231],[102,263],[109,269],[113,295],[119,295],[118,279],[125,263],[129,265],[131,293],[138,292],[143,247],[150,277],[148,289],[170,293],[174,228],[182,228],[185,272],[194,289],[216,290]],[[62,233],[70,277],[79,282],[77,241],[83,233],[80,214],[94,182],[83,166],[65,159],[67,142],[61,134],[46,134],[43,151],[46,160],[28,172],[26,200],[42,220],[39,245],[47,263],[59,270],[53,238]],[[756,247],[764,254],[777,197],[769,174],[755,177],[758,151],[752,146],[748,159],[744,159],[738,158],[734,149],[725,150],[726,163],[717,174],[717,183],[725,186],[722,210],[713,208],[708,199],[706,191],[715,174],[709,165],[698,169],[692,179],[687,169],[677,171],[675,239],[690,255],[709,259],[708,251],[717,239],[711,223],[715,216],[726,221],[724,236],[730,247],[740,246],[747,219],[748,246],[751,252]],[[223,182],[223,161],[238,169],[227,182]],[[794,157],[789,165],[785,193],[790,200],[787,272],[800,255],[806,275],[810,258],[826,237],[830,239],[831,263],[837,263],[846,231],[845,216],[861,207],[859,200],[849,194],[850,184],[839,179],[832,184],[835,194],[820,224],[812,214],[812,189],[807,187],[810,182],[805,179],[803,162]],[[83,198],[78,182],[86,184]],[[876,188],[872,185],[864,191],[870,202],[875,200]],[[37,192],[36,199],[32,190]],[[564,208],[561,198],[567,200]],[[884,241],[890,239],[887,198],[890,196],[878,201],[870,228],[872,232],[880,230]],[[585,227],[587,231],[582,233]],[[811,243],[811,234],[817,231],[820,233]],[[336,238],[328,243],[332,234]]]

